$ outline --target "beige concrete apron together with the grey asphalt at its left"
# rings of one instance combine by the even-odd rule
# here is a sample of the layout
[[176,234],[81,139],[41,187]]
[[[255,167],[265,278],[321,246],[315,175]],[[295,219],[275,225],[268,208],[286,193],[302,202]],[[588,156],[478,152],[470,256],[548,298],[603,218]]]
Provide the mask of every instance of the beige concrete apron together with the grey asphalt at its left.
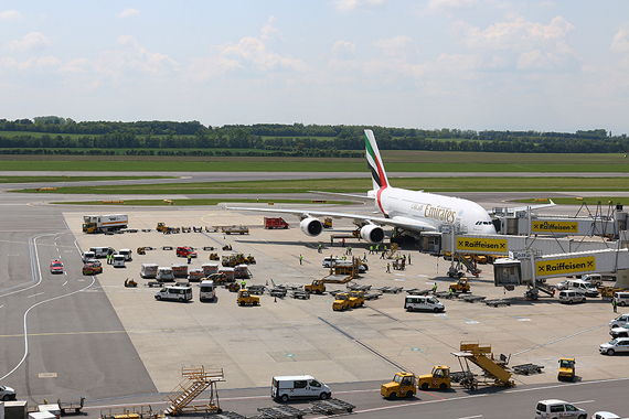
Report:
[[[498,196],[504,195],[477,197],[489,208],[500,205]],[[86,198],[45,196],[51,197]],[[481,266],[480,278],[471,281],[472,293],[488,299],[509,298],[512,305],[489,308],[445,300],[443,314],[406,312],[403,293],[384,294],[365,308],[348,312],[333,312],[329,294],[312,296],[310,300],[287,297],[277,302],[265,294],[260,298],[262,307],[239,308],[234,293],[218,289],[217,302],[201,303],[196,287],[190,303],[160,302],[153,298],[157,290],[145,287],[146,280],[139,278],[142,262],[184,261],[175,257],[174,250],[161,250],[161,246],[202,249],[231,244],[235,251],[252,254],[257,260],[250,267],[254,276],[247,283],[266,284],[271,279],[309,283],[327,273],[321,267],[324,256],[343,253],[340,247],[330,247],[329,235],[349,233],[349,222],[334,221],[333,230],[308,237],[298,228],[296,217],[286,217],[291,225],[287,230],[266,230],[262,228],[262,214],[239,214],[222,207],[52,206],[42,203],[42,198],[4,193],[0,201],[6,215],[0,221],[0,310],[6,314],[0,336],[4,354],[0,358],[0,377],[6,377],[2,384],[15,387],[19,395],[28,395],[31,400],[77,393],[86,394],[88,399],[106,399],[169,391],[181,382],[181,367],[190,364],[224,368],[223,389],[267,388],[270,377],[288,374],[312,374],[328,384],[384,382],[399,368],[423,374],[436,364],[447,364],[459,369],[451,352],[458,351],[461,341],[491,344],[494,354],[511,355],[511,365],[543,365],[543,374],[515,376],[523,386],[555,383],[561,356],[577,357],[580,380],[627,376],[626,356],[598,354],[598,344],[609,341],[607,322],[615,316],[609,303],[600,299],[589,299],[580,305],[562,305],[553,298],[525,301],[523,289],[504,293],[493,287],[489,265]],[[334,208],[362,213],[370,210],[362,205]],[[552,210],[574,212],[574,207]],[[140,232],[85,235],[81,224],[87,213],[127,213],[130,227]],[[158,222],[198,227],[244,224],[250,227],[250,234],[163,235],[154,232]],[[142,228],[152,232],[142,233]],[[322,254],[317,253],[319,243],[323,245]],[[369,253],[364,243],[348,244],[354,255]],[[105,265],[104,273],[92,283],[90,277],[81,275],[79,260],[79,249],[92,246],[134,250],[152,246],[158,250],[135,255],[126,268]],[[191,267],[207,261],[209,251],[199,253]],[[367,255],[370,270],[356,283],[430,288],[436,281],[439,290],[447,289],[451,281],[445,276],[448,261],[415,249],[403,253],[411,255],[412,264],[405,271],[392,269],[391,273],[386,272],[384,260]],[[57,255],[66,268],[63,277],[46,270]],[[303,265],[299,265],[299,255],[303,256]],[[38,264],[41,283],[36,275],[31,276]],[[140,286],[125,288],[125,278],[139,280]],[[24,284],[32,289],[23,299],[10,294]],[[47,294],[40,294],[62,296],[67,287],[73,287],[74,293],[64,299],[49,301]],[[30,325],[30,346],[22,359],[21,325],[25,322]],[[81,368],[73,368],[77,363]]]

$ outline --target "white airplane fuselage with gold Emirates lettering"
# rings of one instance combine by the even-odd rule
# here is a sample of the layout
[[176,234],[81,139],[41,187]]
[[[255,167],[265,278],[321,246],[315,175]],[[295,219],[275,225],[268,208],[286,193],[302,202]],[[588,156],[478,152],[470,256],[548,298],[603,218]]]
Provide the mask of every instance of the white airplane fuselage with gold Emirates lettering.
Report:
[[487,211],[458,197],[385,187],[375,193],[375,206],[392,219],[418,221],[416,232],[438,232],[444,225],[460,225],[469,234],[497,234]]

